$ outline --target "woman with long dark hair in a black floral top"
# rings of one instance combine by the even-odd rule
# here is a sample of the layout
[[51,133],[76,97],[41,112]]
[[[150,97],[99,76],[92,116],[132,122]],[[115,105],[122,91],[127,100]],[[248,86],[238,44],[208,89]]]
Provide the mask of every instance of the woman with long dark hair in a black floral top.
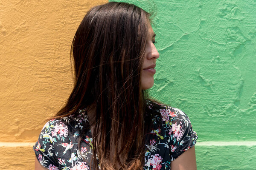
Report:
[[110,2],[85,15],[71,49],[75,85],[34,146],[36,170],[196,169],[186,114],[148,99],[154,43],[137,6]]

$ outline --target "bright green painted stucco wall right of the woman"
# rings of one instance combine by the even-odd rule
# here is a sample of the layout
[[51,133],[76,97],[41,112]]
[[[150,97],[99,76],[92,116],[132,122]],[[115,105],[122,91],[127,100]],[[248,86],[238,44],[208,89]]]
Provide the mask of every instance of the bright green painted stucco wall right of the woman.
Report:
[[198,169],[255,170],[256,0],[120,1],[156,13],[151,96],[189,115]]

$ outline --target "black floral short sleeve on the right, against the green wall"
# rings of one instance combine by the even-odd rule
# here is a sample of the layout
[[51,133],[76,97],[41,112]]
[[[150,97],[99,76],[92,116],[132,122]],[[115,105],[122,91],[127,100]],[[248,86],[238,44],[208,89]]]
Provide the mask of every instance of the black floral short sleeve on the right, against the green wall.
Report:
[[177,108],[169,107],[169,149],[171,158],[175,160],[183,152],[193,147],[198,139],[197,133],[192,129],[189,117]]

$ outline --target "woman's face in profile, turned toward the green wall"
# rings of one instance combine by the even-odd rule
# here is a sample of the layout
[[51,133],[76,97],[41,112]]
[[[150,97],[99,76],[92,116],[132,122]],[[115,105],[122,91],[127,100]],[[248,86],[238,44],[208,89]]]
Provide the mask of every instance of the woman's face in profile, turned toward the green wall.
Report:
[[156,60],[159,57],[154,42],[155,34],[151,24],[148,22],[147,45],[141,74],[141,86],[143,90],[149,89],[154,85],[154,74],[156,73],[154,68],[156,66]]

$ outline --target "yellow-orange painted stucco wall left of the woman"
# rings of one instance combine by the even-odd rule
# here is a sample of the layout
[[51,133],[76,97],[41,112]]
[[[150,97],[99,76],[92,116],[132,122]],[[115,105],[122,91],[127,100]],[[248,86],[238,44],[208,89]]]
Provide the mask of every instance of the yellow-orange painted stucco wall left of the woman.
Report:
[[0,1],[0,169],[32,170],[44,120],[72,89],[70,46],[86,11],[108,0]]

